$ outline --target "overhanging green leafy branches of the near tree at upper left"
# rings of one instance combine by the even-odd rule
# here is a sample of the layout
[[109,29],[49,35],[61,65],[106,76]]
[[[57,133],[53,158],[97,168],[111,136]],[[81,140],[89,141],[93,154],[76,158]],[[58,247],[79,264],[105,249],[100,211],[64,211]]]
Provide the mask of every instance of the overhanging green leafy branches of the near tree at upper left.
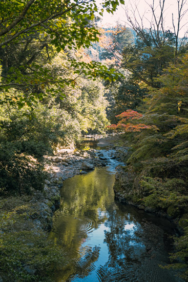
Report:
[[[113,13],[118,4],[118,0],[105,1],[103,7]],[[10,1],[2,1],[0,9],[0,48],[4,48],[0,50],[4,55],[0,88],[7,93],[3,103],[16,103],[22,107],[24,102],[30,106],[31,102],[43,97],[41,88],[56,84],[74,86],[76,77],[83,74],[94,79],[97,76],[110,80],[117,77],[114,70],[110,71],[97,62],[84,63],[69,58],[76,67],[71,79],[50,76],[43,65],[36,63],[44,52],[50,62],[55,51],[79,49],[81,46],[88,48],[92,42],[98,41],[99,32],[93,24],[94,13],[99,11],[95,1],[25,0],[11,1],[11,5]],[[101,15],[102,12],[103,9]],[[18,54],[12,53],[14,49],[19,50]],[[12,63],[12,57],[16,63]],[[21,100],[10,90],[13,87],[24,90]],[[53,87],[48,88],[53,93]]]

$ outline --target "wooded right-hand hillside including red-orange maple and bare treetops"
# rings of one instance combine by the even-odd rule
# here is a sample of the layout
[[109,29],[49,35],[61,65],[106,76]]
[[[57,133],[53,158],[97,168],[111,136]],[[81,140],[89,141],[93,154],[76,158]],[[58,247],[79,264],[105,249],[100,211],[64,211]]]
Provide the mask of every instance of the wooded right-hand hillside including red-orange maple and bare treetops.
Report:
[[[154,4],[150,6],[154,18],[150,29],[127,12],[136,42],[121,52],[109,50],[119,62],[119,71],[127,73],[126,78],[109,85],[115,99],[109,130],[126,132],[124,142],[131,145],[115,192],[140,209],[166,214],[184,229],[184,236],[176,241],[178,253],[172,255],[172,259],[182,259],[174,267],[184,268],[188,244],[188,45],[186,36],[178,36],[186,10],[183,12],[185,2],[178,1],[179,26],[173,22],[174,30],[165,31],[162,3],[160,17]],[[183,277],[187,280],[187,271]]]

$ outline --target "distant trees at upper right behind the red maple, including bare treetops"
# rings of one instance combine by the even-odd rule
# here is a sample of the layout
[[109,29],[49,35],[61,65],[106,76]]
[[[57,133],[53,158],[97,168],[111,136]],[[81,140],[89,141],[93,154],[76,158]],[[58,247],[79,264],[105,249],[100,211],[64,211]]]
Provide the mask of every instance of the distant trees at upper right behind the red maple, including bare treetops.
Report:
[[[118,25],[117,34],[111,35],[114,44],[111,50],[107,48],[108,55],[111,52],[111,61],[107,62],[125,77],[109,85],[108,95],[112,94],[115,99],[112,114],[109,114],[112,123],[117,122],[114,116],[124,110],[144,111],[143,101],[149,97],[151,87],[162,87],[157,77],[165,74],[165,69],[187,51],[186,36],[179,38],[186,25],[182,22],[187,14],[186,1],[177,1],[177,18],[172,15],[172,31],[165,29],[165,4],[165,0],[149,4],[151,18],[146,19],[139,7],[131,3],[130,9],[125,10],[129,28]],[[144,26],[146,20],[149,27]],[[132,37],[128,36],[130,33]]]

